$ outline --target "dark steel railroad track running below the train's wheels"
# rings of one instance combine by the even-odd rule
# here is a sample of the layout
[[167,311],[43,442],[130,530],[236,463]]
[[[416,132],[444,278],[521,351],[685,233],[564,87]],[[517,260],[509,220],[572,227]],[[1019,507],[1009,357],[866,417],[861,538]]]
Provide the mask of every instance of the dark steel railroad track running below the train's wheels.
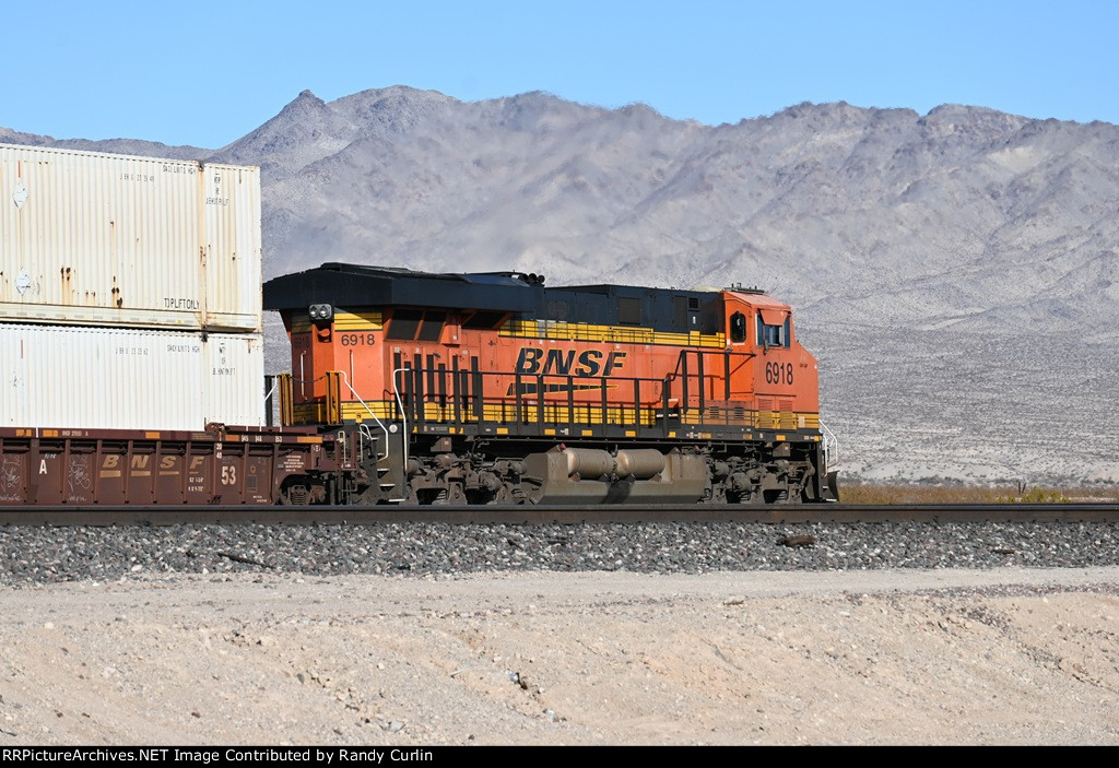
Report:
[[1119,522],[1119,502],[1090,504],[819,504],[734,506],[4,506],[0,525],[373,525],[377,523],[959,523]]

